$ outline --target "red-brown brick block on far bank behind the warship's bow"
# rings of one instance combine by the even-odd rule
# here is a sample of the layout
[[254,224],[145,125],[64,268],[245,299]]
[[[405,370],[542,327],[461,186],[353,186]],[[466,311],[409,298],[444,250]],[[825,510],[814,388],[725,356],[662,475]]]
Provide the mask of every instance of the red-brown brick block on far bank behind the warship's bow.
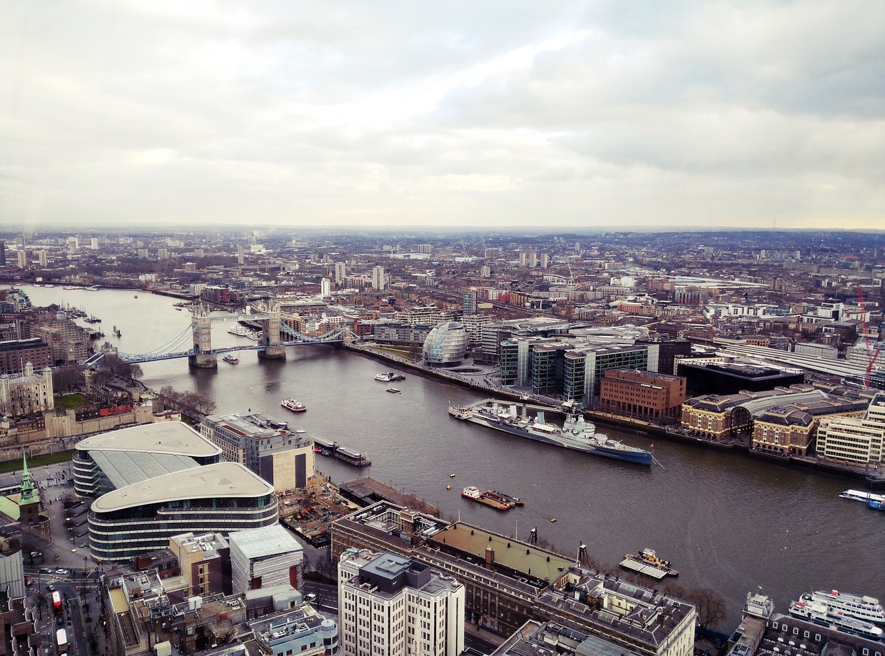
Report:
[[685,379],[638,369],[611,369],[600,382],[599,409],[629,417],[678,417],[685,402]]

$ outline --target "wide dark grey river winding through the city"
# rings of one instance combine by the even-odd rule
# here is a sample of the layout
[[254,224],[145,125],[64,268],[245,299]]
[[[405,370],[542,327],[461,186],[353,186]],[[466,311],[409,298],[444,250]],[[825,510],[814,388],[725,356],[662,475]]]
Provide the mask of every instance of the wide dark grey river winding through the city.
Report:
[[[168,297],[27,289],[35,305],[80,306],[101,317],[108,333],[116,324],[122,336],[110,341],[124,352],[160,349],[189,326],[189,313],[175,311]],[[213,345],[247,343],[227,335],[228,325],[213,326]],[[443,517],[507,535],[518,530],[522,538],[537,526],[558,551],[577,552],[583,542],[605,564],[651,547],[673,562],[685,588],[720,590],[728,612],[722,629],[734,628],[746,592],[757,586],[782,612],[811,589],[885,598],[885,513],[837,497],[857,482],[661,441],[655,454],[663,467],[594,458],[451,419],[449,401],[478,398],[458,386],[404,372],[407,379],[396,383],[403,393],[389,394],[373,380],[389,368],[380,362],[331,346],[287,353],[276,362],[243,351],[239,365],[219,359],[217,371],[191,371],[186,359],[147,363],[142,380],[154,389],[199,391],[218,413],[264,410],[372,459],[372,467],[358,470],[319,458],[335,482],[372,475],[440,506]],[[280,407],[283,397],[296,397],[308,411],[289,413]],[[643,447],[651,442],[623,437]],[[504,490],[526,505],[496,513],[462,499],[466,485]]]

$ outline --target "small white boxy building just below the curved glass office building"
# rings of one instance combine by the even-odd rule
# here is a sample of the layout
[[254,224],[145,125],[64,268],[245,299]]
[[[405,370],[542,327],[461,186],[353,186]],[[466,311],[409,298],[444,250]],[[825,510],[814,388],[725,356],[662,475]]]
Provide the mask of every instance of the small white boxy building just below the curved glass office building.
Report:
[[280,524],[231,533],[227,541],[234,592],[300,587],[304,548]]

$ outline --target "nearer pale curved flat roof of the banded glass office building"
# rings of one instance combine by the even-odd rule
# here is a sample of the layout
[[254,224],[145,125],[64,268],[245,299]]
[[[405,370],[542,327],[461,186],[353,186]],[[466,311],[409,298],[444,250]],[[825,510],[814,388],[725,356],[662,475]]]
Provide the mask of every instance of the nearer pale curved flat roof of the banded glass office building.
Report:
[[218,462],[167,474],[113,490],[92,502],[96,513],[189,498],[256,498],[273,494],[273,485],[236,462]]

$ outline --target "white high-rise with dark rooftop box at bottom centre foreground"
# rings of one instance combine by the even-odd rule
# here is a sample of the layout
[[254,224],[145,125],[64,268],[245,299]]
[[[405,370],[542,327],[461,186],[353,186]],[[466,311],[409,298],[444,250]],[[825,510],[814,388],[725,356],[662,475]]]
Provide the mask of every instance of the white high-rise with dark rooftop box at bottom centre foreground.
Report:
[[338,562],[342,652],[351,656],[458,656],[464,585],[393,553],[348,549]]

